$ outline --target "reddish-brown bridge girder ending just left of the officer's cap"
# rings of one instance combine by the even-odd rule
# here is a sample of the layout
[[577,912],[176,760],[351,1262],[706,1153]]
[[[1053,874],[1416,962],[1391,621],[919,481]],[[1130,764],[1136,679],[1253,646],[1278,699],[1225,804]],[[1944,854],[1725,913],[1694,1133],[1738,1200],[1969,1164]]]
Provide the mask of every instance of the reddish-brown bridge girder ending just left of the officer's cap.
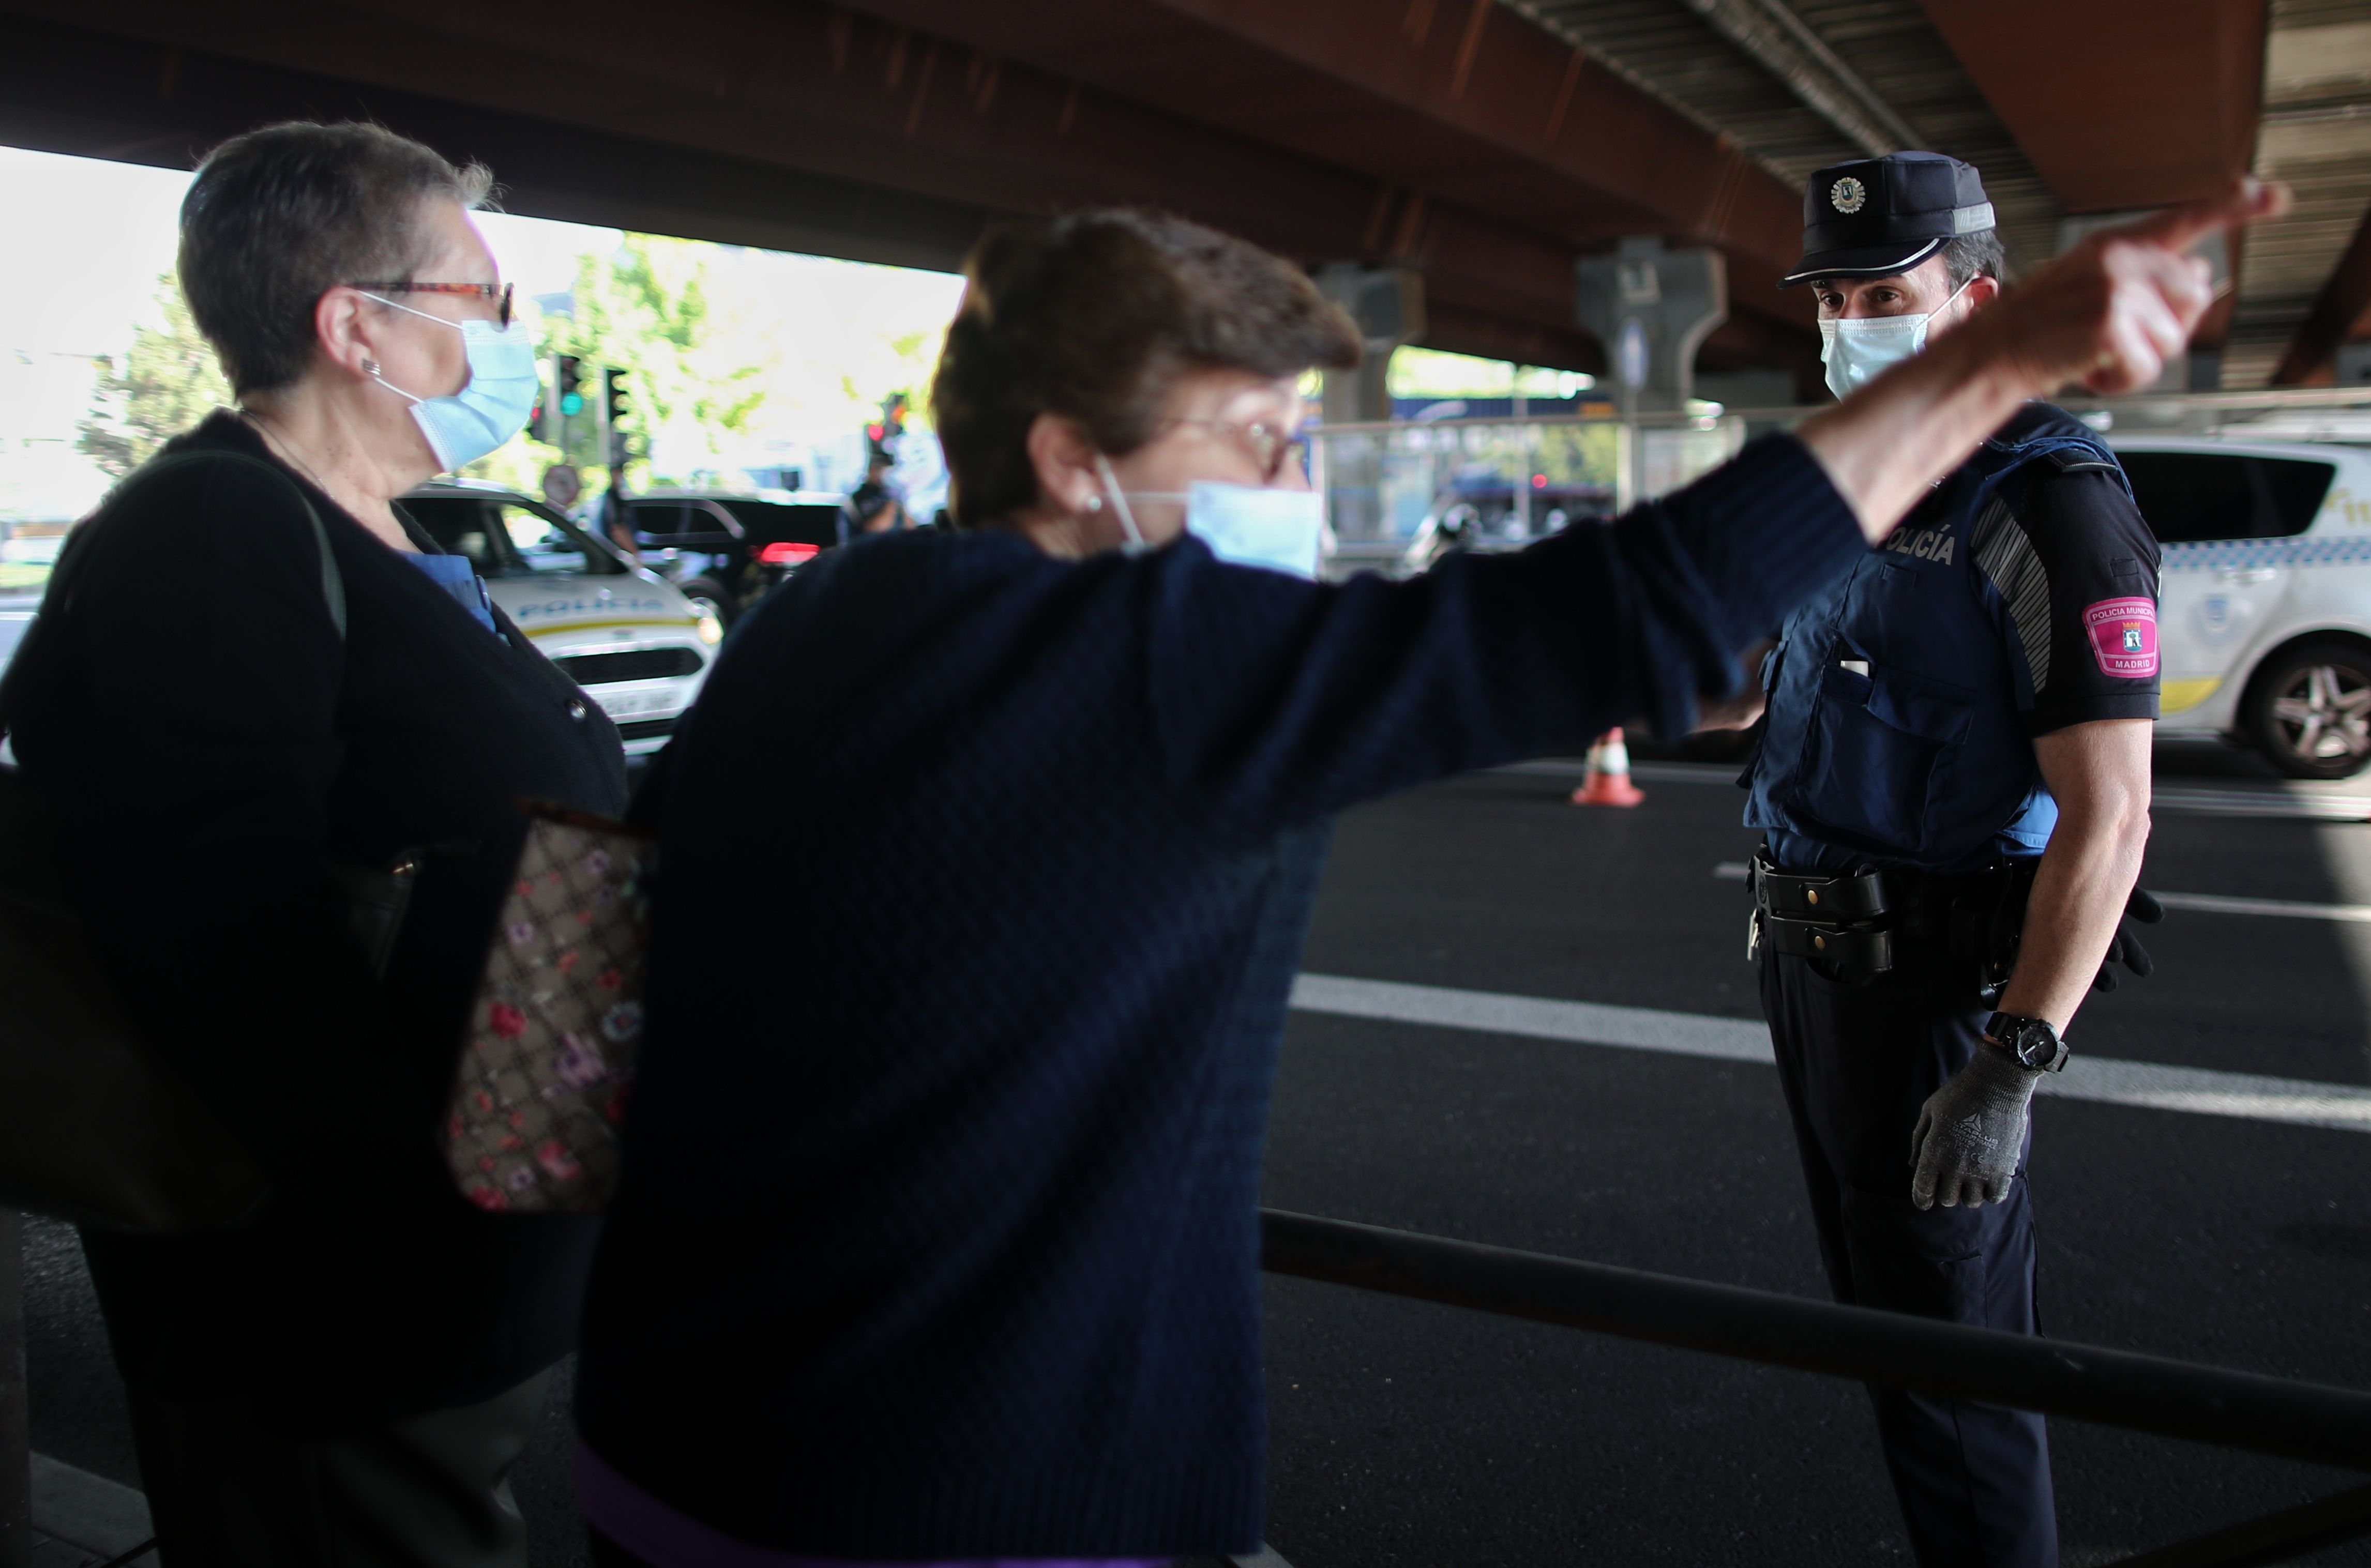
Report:
[[[884,21],[1366,173],[1574,251],[1714,244],[1736,308],[1809,334],[1776,291],[1802,197],[1498,0],[851,0]],[[1366,253],[1392,239],[1378,194]]]

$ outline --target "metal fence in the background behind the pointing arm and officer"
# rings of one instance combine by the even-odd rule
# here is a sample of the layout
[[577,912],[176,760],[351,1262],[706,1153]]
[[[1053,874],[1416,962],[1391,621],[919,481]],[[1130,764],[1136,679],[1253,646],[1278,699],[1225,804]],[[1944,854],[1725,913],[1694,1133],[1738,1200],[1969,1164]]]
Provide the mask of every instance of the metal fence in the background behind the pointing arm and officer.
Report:
[[[2371,386],[2243,393],[2060,398],[2117,433],[2371,445]],[[1335,573],[1423,571],[1439,552],[1517,550],[1593,516],[1676,490],[1752,436],[1819,410],[1728,410],[1624,419],[1612,405],[1513,419],[1397,419],[1311,433],[1311,483],[1325,493]]]

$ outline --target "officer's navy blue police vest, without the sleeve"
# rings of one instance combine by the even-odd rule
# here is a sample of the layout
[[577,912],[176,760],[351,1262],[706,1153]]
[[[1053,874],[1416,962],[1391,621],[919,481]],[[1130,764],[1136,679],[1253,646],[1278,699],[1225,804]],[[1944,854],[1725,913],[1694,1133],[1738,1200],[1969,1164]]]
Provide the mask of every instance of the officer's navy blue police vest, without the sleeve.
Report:
[[2122,478],[2084,424],[2032,403],[1788,618],[1762,666],[1769,718],[1745,779],[1745,824],[1769,831],[1781,865],[1970,872],[2049,846],[2058,803],[2018,706],[2015,628],[1973,550],[2034,464]]

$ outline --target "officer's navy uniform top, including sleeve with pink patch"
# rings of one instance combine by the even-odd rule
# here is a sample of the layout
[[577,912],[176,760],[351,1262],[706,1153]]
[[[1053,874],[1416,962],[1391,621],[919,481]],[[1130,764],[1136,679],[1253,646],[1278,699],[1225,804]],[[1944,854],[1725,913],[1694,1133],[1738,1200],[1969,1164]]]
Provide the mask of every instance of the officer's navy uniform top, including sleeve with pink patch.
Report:
[[2027,405],[1788,618],[1747,827],[1797,872],[1973,872],[2058,822],[2032,739],[2158,715],[2158,542],[2113,452]]

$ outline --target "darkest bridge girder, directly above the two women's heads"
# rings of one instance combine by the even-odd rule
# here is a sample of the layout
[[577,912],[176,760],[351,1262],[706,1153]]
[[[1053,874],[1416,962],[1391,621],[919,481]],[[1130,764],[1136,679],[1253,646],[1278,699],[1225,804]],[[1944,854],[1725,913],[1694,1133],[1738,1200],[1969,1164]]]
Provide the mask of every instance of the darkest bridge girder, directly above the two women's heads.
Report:
[[[631,0],[588,0],[569,28],[517,0],[446,19],[398,0],[204,19],[164,0],[0,0],[0,118],[121,123],[145,149],[116,156],[185,166],[247,123],[375,114],[486,156],[517,211],[922,265],[951,265],[989,213],[1150,201],[1304,261],[1413,258],[1444,298],[1498,317],[1496,336],[1536,339],[1541,362],[1596,360],[1574,365],[1574,251],[1539,227],[813,0],[678,0],[669,21]],[[1750,358],[1764,341],[1707,351],[1766,362]]]

